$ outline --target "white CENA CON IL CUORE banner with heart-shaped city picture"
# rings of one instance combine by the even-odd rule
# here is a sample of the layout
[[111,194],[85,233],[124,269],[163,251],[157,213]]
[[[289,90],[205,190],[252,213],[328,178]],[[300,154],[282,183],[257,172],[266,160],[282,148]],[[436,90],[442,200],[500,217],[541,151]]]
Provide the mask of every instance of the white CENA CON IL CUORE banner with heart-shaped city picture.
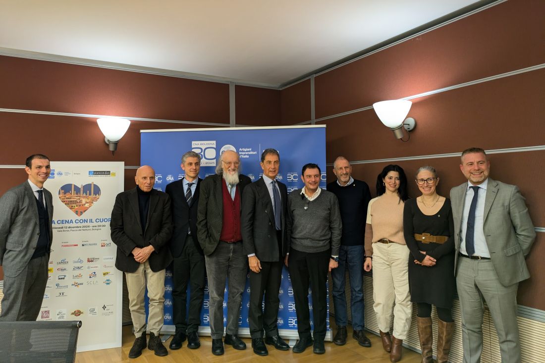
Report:
[[123,162],[52,161],[53,244],[38,320],[81,320],[77,352],[121,346],[123,276],[110,216]]

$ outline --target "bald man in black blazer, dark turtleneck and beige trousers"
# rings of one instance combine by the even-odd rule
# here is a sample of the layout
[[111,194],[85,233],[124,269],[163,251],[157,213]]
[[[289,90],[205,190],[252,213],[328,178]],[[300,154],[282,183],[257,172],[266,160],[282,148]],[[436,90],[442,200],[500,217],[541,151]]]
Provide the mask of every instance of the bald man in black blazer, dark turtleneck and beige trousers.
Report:
[[155,171],[138,168],[136,187],[121,192],[113,205],[110,222],[112,241],[117,245],[116,268],[125,273],[129,308],[136,340],[129,358],[136,358],[146,347],[144,291],[149,298],[149,344],[155,355],[168,354],[159,332],[164,321],[165,268],[172,261],[167,244],[172,235],[171,202],[164,192],[153,189]]

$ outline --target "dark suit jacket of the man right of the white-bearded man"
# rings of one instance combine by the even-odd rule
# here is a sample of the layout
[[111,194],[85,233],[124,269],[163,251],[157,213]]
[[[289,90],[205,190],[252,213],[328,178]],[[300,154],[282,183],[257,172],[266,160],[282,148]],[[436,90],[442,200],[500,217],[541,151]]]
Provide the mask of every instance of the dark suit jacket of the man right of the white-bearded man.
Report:
[[278,256],[278,240],[274,211],[269,189],[263,178],[259,178],[244,189],[244,202],[240,218],[244,254],[255,253],[260,261],[282,261],[288,252],[286,238],[286,216],[288,213],[288,190],[286,184],[276,181],[282,199],[281,228],[282,256]]

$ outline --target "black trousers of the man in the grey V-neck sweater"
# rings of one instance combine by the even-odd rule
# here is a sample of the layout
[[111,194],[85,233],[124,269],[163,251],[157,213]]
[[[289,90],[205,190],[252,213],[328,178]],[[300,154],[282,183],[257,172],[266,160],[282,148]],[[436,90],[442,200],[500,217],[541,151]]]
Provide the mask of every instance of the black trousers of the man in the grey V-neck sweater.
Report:
[[289,250],[288,270],[292,280],[299,338],[310,338],[308,285],[312,288],[314,340],[324,341],[328,317],[327,283],[330,251],[301,252]]

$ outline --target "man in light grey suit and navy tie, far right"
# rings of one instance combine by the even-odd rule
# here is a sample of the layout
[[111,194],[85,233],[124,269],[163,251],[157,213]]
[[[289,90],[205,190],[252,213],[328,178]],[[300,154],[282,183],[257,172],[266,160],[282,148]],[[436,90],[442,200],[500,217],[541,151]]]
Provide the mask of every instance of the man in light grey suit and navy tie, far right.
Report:
[[498,331],[501,361],[520,362],[517,289],[530,277],[524,259],[536,237],[534,225],[518,187],[488,178],[485,150],[464,150],[460,170],[468,183],[453,187],[450,198],[464,363],[481,360],[485,301]]

